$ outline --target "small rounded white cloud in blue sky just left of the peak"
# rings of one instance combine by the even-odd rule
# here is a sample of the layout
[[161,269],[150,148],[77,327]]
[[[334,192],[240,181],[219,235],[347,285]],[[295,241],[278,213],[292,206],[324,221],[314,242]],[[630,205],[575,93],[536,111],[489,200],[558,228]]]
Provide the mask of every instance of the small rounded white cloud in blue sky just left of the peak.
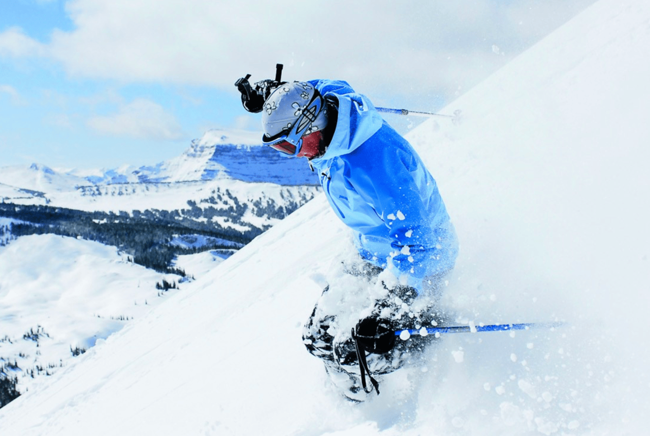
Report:
[[185,136],[174,116],[161,105],[142,98],[123,105],[118,113],[94,116],[86,123],[99,133],[138,139],[178,140]]

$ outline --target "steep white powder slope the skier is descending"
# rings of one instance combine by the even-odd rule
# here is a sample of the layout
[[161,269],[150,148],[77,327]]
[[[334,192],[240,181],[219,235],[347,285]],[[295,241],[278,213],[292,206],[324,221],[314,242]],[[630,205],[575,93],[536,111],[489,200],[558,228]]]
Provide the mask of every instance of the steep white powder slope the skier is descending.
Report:
[[[322,196],[0,409],[2,435],[642,435],[650,5],[600,0],[409,136],[461,253],[429,363],[340,400],[302,323],[349,235]],[[314,231],[318,229],[318,237]]]

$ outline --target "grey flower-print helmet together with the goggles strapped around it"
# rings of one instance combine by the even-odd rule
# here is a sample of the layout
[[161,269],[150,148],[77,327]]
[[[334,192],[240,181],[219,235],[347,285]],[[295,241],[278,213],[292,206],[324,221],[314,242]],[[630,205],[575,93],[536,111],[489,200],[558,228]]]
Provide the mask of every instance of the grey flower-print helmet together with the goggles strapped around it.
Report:
[[296,156],[302,146],[301,138],[324,129],[326,124],[326,105],[320,92],[307,82],[285,83],[264,102],[262,141]]

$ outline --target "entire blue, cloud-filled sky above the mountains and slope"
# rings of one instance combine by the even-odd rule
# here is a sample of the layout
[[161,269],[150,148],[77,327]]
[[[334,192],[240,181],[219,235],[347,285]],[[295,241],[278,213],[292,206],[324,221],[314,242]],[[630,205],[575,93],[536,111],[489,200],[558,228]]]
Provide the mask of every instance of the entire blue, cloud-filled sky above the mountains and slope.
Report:
[[437,111],[592,2],[2,0],[0,167],[150,165],[258,129],[233,83],[278,62]]

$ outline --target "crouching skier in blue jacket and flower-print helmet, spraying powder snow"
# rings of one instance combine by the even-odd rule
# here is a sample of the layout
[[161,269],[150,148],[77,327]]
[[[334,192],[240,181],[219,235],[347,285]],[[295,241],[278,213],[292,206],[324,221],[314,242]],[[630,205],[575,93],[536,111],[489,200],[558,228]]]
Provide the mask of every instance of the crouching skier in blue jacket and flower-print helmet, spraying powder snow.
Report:
[[[352,229],[359,259],[342,268],[367,286],[330,283],[305,323],[304,342],[343,395],[361,402],[372,392],[366,375],[379,393],[371,374],[393,372],[417,354],[394,332],[435,323],[458,241],[434,178],[366,96],[344,81],[281,82],[279,72],[254,89],[250,75],[235,85],[244,108],[262,112],[263,143],[306,157],[334,213]],[[369,305],[358,310],[351,293],[365,294],[354,298]]]

